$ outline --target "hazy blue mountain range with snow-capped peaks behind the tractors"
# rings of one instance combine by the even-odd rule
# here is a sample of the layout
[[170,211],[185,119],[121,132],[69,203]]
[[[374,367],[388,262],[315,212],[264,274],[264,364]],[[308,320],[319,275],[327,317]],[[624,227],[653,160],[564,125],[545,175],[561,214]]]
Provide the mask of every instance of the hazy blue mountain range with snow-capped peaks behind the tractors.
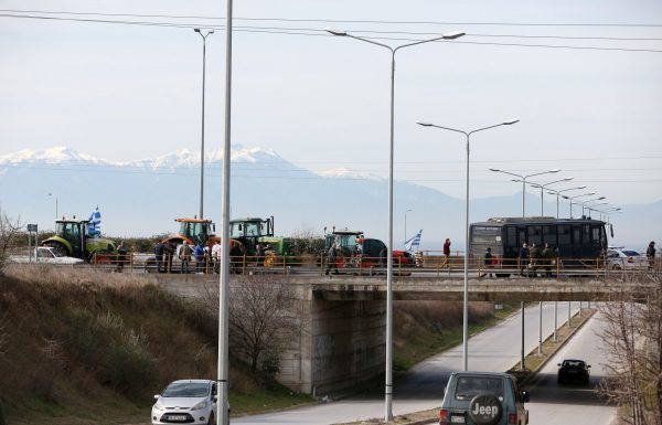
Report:
[[[346,169],[312,172],[273,150],[233,147],[231,215],[275,216],[277,235],[322,235],[355,229],[386,241],[387,181]],[[222,155],[205,153],[204,216],[221,217]],[[200,206],[200,153],[179,150],[151,159],[113,162],[56,147],[0,156],[0,208],[24,224],[54,229],[56,216],[88,217],[98,205],[109,236],[151,236],[177,230],[174,219],[193,217]],[[526,204],[540,204],[526,193]],[[522,195],[471,199],[470,221],[521,215]],[[612,214],[613,244],[643,248],[662,238],[662,201],[622,205]],[[57,209],[57,211],[56,211]],[[405,212],[413,209],[405,224]],[[556,211],[556,202],[545,204]],[[560,215],[568,216],[567,201]],[[446,237],[463,248],[465,200],[406,181],[394,182],[394,247],[423,230],[421,249],[440,249]]]

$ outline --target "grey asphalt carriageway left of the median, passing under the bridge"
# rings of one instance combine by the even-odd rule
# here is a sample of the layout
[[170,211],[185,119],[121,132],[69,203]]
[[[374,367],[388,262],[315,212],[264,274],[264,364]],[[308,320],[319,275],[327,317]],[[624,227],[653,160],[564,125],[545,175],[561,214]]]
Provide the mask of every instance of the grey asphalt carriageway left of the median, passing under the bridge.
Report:
[[[573,311],[578,309],[573,302]],[[525,351],[537,347],[538,306],[530,307],[525,314]],[[568,302],[558,304],[558,323],[568,316]],[[554,304],[543,308],[543,338],[554,329]],[[469,340],[469,369],[503,372],[520,360],[521,316],[514,315],[499,326],[490,328]],[[555,363],[554,363],[555,364]],[[452,371],[461,370],[462,347],[456,347],[419,363],[398,379],[394,387],[393,412],[395,415],[438,407],[442,391]],[[255,416],[235,417],[233,424],[245,425],[328,425],[340,422],[384,417],[383,394],[367,393],[349,400],[307,406],[285,412]],[[533,417],[533,416],[532,416]],[[537,423],[532,421],[532,423]],[[562,422],[556,422],[562,423]],[[579,423],[569,421],[565,423]]]

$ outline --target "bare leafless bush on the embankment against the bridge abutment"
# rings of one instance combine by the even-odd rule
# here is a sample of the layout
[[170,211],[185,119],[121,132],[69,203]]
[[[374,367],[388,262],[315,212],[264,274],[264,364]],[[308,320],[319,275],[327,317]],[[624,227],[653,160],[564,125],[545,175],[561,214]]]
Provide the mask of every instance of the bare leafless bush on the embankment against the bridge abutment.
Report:
[[[246,359],[254,372],[275,368],[293,332],[295,291],[277,279],[268,275],[238,276],[229,287],[229,349]],[[202,298],[217,316],[217,288],[205,288]]]

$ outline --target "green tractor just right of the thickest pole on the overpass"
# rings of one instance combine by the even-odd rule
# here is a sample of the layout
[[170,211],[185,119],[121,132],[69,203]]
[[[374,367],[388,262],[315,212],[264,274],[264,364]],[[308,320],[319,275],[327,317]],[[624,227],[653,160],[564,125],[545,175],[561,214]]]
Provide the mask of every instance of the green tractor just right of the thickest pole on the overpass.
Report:
[[268,219],[246,217],[229,221],[229,237],[239,241],[246,255],[256,254],[257,244],[268,246],[276,255],[291,256],[289,237],[274,236],[274,216]]

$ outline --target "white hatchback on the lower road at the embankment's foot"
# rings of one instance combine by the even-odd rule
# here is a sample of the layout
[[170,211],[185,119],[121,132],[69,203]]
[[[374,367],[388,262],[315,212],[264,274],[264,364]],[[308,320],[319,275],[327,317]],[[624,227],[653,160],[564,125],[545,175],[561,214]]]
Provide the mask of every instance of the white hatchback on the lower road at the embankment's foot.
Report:
[[216,383],[210,380],[174,381],[154,395],[151,423],[215,424]]

